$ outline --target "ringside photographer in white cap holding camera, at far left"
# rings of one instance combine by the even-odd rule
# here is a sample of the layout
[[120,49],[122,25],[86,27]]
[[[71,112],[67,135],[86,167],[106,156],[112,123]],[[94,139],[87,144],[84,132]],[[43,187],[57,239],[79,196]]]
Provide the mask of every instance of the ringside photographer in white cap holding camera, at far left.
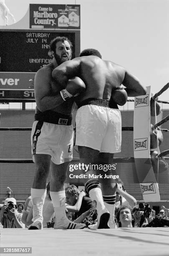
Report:
[[5,199],[5,204],[0,211],[0,223],[3,225],[3,228],[25,228],[21,218],[22,215],[17,211],[15,198]]

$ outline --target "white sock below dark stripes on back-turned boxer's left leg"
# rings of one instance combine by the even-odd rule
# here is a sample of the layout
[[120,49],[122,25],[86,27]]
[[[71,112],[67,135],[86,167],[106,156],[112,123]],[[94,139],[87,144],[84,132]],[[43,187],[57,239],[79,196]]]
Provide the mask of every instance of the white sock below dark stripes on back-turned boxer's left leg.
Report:
[[101,210],[101,208],[105,208],[104,202],[103,202],[103,196],[102,196],[102,192],[101,189],[98,187],[95,187],[93,189],[91,189],[89,191],[89,197],[91,198],[92,201],[96,201],[97,205],[96,205],[96,209],[97,212],[99,212]]

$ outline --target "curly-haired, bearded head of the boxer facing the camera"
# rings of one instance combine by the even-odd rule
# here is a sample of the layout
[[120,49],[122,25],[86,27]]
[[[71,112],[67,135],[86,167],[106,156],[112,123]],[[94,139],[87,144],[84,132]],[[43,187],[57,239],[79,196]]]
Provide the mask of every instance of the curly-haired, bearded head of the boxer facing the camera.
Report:
[[65,36],[57,36],[50,42],[50,51],[57,64],[60,65],[64,61],[71,60],[72,43]]

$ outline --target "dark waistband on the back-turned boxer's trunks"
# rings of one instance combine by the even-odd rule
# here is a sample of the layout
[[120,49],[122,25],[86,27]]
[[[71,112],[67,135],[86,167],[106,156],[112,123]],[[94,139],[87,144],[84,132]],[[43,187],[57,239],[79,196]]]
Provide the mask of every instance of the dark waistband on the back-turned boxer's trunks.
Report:
[[87,100],[83,100],[82,102],[78,103],[78,108],[81,108],[85,105],[96,105],[106,108],[116,108],[119,109],[117,104],[113,100],[103,100],[98,98],[88,98]]

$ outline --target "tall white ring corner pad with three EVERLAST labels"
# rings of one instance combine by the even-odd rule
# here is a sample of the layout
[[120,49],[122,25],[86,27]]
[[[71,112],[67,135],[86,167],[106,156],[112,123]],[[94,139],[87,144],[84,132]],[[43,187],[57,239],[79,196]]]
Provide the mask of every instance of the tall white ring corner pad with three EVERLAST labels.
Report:
[[150,159],[150,89],[134,101],[134,160],[144,201],[158,202],[159,187]]

